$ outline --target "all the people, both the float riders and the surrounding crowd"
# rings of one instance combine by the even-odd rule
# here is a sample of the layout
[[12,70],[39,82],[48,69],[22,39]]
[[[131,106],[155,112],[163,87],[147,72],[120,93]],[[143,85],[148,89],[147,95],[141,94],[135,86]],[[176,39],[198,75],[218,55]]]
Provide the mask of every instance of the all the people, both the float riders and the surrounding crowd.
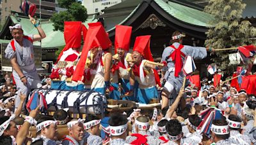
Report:
[[[38,35],[24,36],[19,24],[10,27],[14,39],[5,57],[12,64],[13,79],[5,74],[0,86],[0,145],[256,144],[255,95],[237,91],[229,83],[216,85],[207,78],[201,81],[202,87],[196,87],[186,79],[188,71],[182,71],[184,66],[193,67],[185,65],[188,56],[204,59],[213,48],[182,45],[184,35],[175,31],[161,63],[156,63],[150,52],[150,36],[138,36],[129,53],[132,27],[116,25],[112,55],[111,41],[100,22],[88,24],[88,30],[81,22],[65,22],[69,25],[65,38],[76,38],[72,41],[77,43],[65,39],[67,46],[52,74],[40,79],[32,43],[45,34],[35,19],[30,19]],[[157,70],[161,70],[161,79]],[[105,111],[104,117],[86,114],[79,119],[73,118],[68,108],[56,109],[53,116],[42,113],[44,104],[27,113],[26,102],[33,88],[90,90],[107,93],[108,99],[138,104],[158,99],[160,106]]]

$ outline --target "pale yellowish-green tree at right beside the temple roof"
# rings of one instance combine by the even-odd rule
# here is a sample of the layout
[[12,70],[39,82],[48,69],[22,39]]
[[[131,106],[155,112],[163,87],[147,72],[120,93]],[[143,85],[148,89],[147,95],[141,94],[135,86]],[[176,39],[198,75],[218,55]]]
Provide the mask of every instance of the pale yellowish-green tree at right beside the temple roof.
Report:
[[[204,11],[214,16],[215,20],[211,24],[215,27],[206,32],[205,45],[221,49],[252,44],[249,38],[256,36],[256,30],[249,21],[242,18],[245,6],[243,0],[210,0]],[[228,60],[228,54],[232,51],[215,53],[217,57],[212,59],[213,62],[231,74],[236,69]]]

